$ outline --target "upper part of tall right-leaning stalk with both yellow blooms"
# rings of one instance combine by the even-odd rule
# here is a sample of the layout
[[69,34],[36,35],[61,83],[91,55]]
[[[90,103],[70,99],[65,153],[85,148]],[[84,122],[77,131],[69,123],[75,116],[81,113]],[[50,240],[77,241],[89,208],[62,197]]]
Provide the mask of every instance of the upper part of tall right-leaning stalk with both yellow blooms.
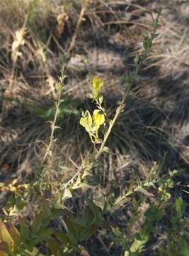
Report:
[[[104,81],[101,78],[98,77],[94,77],[92,80],[92,91],[93,91],[93,101],[96,102],[96,106],[98,107],[98,110],[95,110],[93,112],[93,119],[91,118],[91,114],[88,112],[88,110],[86,110],[86,112],[82,114],[82,117],[80,119],[80,124],[85,127],[86,132],[88,132],[90,138],[91,138],[91,142],[95,143],[101,143],[100,149],[96,150],[96,156],[95,156],[95,160],[98,160],[98,158],[101,156],[102,152],[104,151],[105,148],[105,143],[107,142],[107,139],[110,135],[110,132],[113,129],[113,125],[115,124],[115,121],[118,119],[119,114],[124,110],[125,107],[125,100],[127,98],[127,95],[130,94],[130,88],[132,87],[132,85],[134,84],[134,82],[137,80],[137,77],[142,69],[142,64],[144,63],[144,60],[147,58],[147,54],[149,53],[149,50],[151,49],[152,46],[152,42],[154,40],[154,38],[156,38],[157,36],[159,36],[158,34],[156,34],[156,29],[158,27],[158,22],[159,22],[159,16],[161,14],[161,10],[159,11],[159,14],[156,18],[156,20],[154,20],[153,18],[153,31],[150,35],[144,36],[144,41],[143,41],[143,52],[142,54],[139,55],[139,53],[137,53],[136,57],[134,58],[134,67],[135,70],[133,72],[128,72],[127,74],[125,74],[125,82],[127,83],[128,87],[127,90],[125,91],[122,100],[120,102],[120,104],[118,105],[116,112],[115,112],[115,116],[113,117],[112,120],[108,120],[106,114],[105,114],[105,110],[102,107],[102,103],[103,103],[103,97],[100,96],[101,95],[101,88],[104,85]],[[98,121],[96,121],[96,117],[94,117],[94,113],[98,112]],[[103,114],[101,114],[100,112],[102,112]],[[102,124],[105,124],[105,117],[108,120],[108,130],[105,133],[105,136],[103,138],[103,142],[99,142],[98,140],[98,129],[100,128],[100,126]],[[94,135],[96,134],[96,135]],[[95,137],[95,141],[93,141],[93,138]]]

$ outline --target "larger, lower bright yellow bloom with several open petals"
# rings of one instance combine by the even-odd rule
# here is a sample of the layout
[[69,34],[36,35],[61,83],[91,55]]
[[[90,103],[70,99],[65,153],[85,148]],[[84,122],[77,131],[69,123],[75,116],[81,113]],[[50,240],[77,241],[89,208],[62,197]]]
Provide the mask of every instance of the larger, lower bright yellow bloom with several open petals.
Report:
[[86,110],[79,121],[81,126],[86,129],[86,132],[88,132],[91,142],[93,142],[93,137],[95,138],[95,142],[98,142],[98,129],[101,124],[105,122],[105,116],[100,112],[101,110],[94,110],[93,117],[91,117],[90,112]]

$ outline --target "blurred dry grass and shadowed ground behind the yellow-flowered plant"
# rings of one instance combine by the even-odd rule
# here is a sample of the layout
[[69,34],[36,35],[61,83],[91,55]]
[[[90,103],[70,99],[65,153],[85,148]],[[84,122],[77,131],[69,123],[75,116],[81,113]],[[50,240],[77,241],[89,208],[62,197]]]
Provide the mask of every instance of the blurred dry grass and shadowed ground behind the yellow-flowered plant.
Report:
[[[103,184],[134,174],[145,178],[154,161],[163,160],[166,170],[188,169],[188,1],[1,0],[1,181],[30,178],[38,168],[63,65],[62,129],[47,178],[75,173],[91,147],[79,125],[81,111],[91,106],[90,75],[105,80],[105,107],[112,117],[125,91],[123,75],[132,70],[143,36],[151,33],[151,14],[156,17],[160,8],[159,36],[108,140],[110,153],[101,159],[98,178]],[[185,171],[181,182],[187,178]]]

